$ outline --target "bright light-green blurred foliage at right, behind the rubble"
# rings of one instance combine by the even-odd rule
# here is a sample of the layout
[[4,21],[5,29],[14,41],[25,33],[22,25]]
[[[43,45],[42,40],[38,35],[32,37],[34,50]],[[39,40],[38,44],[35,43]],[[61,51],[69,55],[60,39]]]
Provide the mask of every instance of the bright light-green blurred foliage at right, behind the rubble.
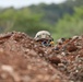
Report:
[[74,8],[73,15],[66,14],[56,25],[57,38],[83,34],[83,7]]

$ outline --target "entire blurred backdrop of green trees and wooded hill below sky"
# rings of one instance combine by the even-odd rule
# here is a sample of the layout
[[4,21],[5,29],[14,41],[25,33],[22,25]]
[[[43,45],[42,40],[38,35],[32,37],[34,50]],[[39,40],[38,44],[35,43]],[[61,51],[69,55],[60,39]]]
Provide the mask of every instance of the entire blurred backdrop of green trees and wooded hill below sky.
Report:
[[0,33],[20,31],[34,36],[40,30],[49,31],[55,39],[83,34],[83,1],[40,3],[22,9],[0,8]]

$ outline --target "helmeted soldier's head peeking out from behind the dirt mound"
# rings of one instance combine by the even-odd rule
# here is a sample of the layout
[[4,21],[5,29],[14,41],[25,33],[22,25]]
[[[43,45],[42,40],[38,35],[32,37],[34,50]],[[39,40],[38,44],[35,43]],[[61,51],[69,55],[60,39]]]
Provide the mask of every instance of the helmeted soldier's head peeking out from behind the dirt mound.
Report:
[[40,42],[43,46],[54,46],[54,38],[48,31],[39,31],[34,37],[35,40]]

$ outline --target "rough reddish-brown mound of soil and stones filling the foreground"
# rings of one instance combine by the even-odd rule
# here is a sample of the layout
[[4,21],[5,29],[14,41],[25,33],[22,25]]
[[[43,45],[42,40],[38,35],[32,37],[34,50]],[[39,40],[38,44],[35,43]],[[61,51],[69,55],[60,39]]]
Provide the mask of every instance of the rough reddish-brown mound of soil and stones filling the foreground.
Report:
[[83,36],[44,47],[24,33],[1,34],[0,82],[83,82]]

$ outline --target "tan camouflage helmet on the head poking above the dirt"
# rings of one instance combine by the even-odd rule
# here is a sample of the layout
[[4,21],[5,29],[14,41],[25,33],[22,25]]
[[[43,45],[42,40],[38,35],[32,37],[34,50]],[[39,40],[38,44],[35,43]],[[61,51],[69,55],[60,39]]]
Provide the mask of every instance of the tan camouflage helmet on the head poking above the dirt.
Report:
[[48,31],[39,31],[35,35],[35,40],[40,40],[40,39],[52,39],[52,37]]

